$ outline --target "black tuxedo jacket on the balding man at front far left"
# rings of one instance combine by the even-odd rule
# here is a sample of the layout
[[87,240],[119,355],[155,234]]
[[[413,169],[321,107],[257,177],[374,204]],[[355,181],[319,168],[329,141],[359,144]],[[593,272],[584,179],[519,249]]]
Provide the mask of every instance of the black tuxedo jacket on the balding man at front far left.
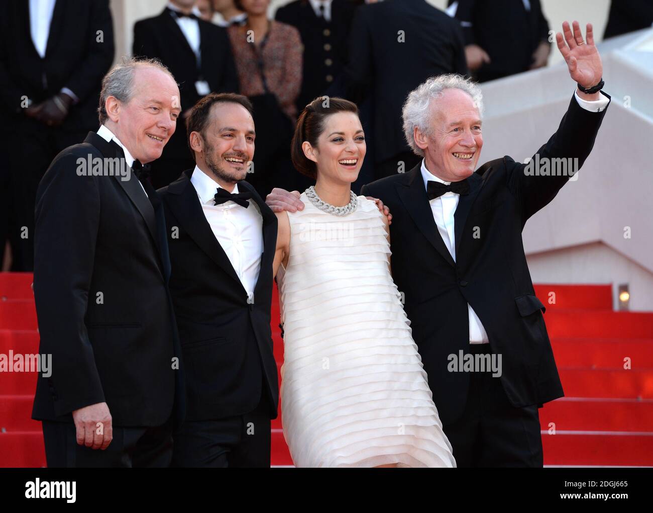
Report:
[[71,421],[72,410],[106,402],[114,425],[156,426],[170,418],[177,391],[180,423],[163,207],[134,173],[79,176],[78,159],[88,156],[124,159],[118,144],[89,133],[54,159],[37,193],[39,352],[52,354],[53,369],[38,379],[33,418]]

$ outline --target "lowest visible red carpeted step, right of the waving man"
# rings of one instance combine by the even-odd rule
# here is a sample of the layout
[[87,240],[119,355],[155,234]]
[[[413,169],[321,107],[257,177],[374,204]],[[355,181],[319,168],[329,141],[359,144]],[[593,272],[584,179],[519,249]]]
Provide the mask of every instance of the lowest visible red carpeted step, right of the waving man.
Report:
[[653,465],[653,433],[542,435],[545,465]]

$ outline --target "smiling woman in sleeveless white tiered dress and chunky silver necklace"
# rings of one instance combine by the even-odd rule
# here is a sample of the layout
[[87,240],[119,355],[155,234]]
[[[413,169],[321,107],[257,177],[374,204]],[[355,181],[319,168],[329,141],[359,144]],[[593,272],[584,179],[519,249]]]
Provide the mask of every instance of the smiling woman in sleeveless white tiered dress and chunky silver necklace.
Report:
[[317,178],[279,212],[273,272],[284,329],[283,434],[297,467],[454,467],[390,274],[388,221],[351,183],[365,157],[355,104],[302,112],[293,163]]

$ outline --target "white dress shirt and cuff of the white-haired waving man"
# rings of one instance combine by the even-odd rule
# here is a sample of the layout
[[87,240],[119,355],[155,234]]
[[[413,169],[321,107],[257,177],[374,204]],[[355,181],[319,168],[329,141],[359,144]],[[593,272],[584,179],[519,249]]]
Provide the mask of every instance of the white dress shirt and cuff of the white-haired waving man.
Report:
[[[601,98],[595,101],[583,100],[579,97],[577,93],[574,93],[576,100],[579,105],[585,110],[590,110],[592,112],[601,112],[605,107],[607,107],[610,100],[601,93]],[[424,188],[427,187],[428,180],[434,182],[440,182],[441,184],[450,185],[451,182],[445,182],[430,173],[426,169],[426,163],[422,159],[422,179],[424,180]],[[454,192],[447,192],[443,195],[434,198],[429,201],[431,205],[431,211],[433,212],[433,219],[438,226],[438,231],[440,237],[445,242],[445,246],[451,253],[453,261],[456,261],[456,233],[454,231],[454,214],[456,213],[456,207],[458,207],[458,199],[460,199],[460,194]],[[479,316],[476,315],[473,308],[468,304],[468,314],[470,322],[470,344],[487,344],[489,342],[488,335],[483,327],[483,323],[479,319]]]

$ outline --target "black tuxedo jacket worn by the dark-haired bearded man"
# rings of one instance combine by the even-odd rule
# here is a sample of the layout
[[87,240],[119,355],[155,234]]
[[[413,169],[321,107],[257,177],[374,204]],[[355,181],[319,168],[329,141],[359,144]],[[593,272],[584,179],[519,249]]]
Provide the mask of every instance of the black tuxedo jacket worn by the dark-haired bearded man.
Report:
[[[179,325],[187,389],[186,420],[254,410],[266,394],[270,418],[279,399],[270,306],[277,218],[247,182],[263,216],[264,251],[253,301],[215,238],[191,184],[192,170],[159,190],[168,226],[170,292]],[[248,208],[254,208],[250,205]]]

